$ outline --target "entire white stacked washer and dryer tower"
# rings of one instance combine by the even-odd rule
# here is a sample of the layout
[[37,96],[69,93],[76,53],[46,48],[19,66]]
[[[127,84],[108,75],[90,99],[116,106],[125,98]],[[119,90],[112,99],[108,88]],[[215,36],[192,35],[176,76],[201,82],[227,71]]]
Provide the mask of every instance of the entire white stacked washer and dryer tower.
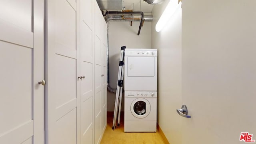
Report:
[[126,49],[124,132],[156,132],[157,50]]

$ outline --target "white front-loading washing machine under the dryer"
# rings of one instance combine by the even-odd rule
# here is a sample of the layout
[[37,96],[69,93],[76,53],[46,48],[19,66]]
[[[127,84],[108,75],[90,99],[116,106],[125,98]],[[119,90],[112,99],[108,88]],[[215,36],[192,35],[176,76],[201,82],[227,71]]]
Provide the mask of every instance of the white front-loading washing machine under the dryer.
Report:
[[156,132],[156,92],[124,92],[124,132]]

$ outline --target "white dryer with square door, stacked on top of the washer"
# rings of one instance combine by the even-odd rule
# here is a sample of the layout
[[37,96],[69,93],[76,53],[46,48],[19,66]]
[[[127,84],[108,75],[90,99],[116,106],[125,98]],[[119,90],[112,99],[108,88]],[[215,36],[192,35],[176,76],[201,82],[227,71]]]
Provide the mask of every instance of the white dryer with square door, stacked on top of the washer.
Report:
[[157,87],[157,50],[125,50],[124,90],[156,91]]

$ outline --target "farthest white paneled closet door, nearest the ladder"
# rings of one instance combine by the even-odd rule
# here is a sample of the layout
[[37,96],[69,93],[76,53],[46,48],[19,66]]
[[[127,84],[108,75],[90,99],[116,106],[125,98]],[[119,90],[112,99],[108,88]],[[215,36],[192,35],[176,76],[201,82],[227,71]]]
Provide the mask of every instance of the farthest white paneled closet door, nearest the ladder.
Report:
[[98,5],[94,6],[94,115],[95,143],[106,129],[106,22]]

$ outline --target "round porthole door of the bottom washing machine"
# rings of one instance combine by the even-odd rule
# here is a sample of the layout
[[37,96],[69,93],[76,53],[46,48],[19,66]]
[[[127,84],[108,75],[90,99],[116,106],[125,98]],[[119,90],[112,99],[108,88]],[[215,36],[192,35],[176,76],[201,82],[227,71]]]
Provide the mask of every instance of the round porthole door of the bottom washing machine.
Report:
[[136,118],[146,118],[150,110],[150,103],[145,98],[136,98],[131,104],[131,112]]

